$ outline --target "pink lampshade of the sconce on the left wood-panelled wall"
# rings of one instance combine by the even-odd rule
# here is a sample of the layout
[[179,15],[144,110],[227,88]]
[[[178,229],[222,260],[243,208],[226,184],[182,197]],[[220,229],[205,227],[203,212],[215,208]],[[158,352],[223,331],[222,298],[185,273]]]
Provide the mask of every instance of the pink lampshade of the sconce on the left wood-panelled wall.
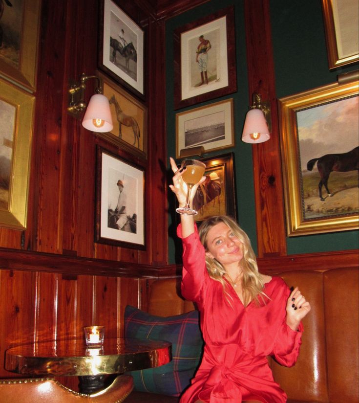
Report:
[[105,95],[91,96],[82,125],[91,132],[110,132],[113,129],[110,104]]

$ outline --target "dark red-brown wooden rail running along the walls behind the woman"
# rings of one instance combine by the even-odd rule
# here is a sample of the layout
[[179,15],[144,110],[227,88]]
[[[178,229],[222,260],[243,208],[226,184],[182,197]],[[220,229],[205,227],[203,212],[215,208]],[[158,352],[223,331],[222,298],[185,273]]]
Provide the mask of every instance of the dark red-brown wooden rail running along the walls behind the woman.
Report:
[[[259,271],[276,274],[290,270],[328,270],[359,266],[359,250],[339,250],[257,259]],[[181,265],[151,266],[104,259],[0,248],[0,269],[29,270],[106,277],[170,278],[181,275]]]

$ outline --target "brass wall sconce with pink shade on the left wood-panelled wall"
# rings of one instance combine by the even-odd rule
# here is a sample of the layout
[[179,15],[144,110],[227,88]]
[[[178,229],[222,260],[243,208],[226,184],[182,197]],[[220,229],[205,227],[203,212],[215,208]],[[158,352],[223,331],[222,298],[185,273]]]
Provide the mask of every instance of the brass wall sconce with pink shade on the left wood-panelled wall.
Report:
[[[90,78],[96,78],[99,85],[96,88],[96,94],[91,96],[87,105],[84,100],[86,89],[85,82]],[[106,96],[102,93],[100,79],[97,76],[86,76],[82,73],[80,83],[72,84],[68,93],[70,99],[67,111],[72,116],[79,118],[81,112],[87,107],[82,120],[82,125],[85,129],[92,132],[110,132],[113,129],[110,104]]]

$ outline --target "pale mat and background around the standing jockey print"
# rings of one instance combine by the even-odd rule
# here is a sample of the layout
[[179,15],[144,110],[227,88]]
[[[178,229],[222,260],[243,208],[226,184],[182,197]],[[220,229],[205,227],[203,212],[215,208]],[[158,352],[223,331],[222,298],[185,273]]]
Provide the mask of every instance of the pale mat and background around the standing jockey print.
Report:
[[[192,71],[200,76],[196,63],[199,37],[204,35],[211,42],[208,68],[216,69],[217,79],[199,87],[193,87]],[[214,67],[213,67],[214,66]],[[181,34],[181,99],[191,98],[205,92],[228,86],[227,23],[226,16],[198,26]]]

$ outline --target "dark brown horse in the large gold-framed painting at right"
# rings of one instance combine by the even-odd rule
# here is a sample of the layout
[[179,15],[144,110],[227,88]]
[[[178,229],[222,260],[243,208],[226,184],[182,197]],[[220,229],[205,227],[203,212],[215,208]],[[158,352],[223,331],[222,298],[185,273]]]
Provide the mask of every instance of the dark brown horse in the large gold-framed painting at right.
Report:
[[307,162],[308,171],[313,169],[316,161],[318,161],[317,168],[320,174],[320,181],[318,183],[319,197],[320,200],[324,202],[324,198],[321,194],[323,185],[328,192],[328,196],[333,196],[328,189],[328,179],[332,171],[348,172],[359,170],[359,147],[356,147],[347,153],[326,154],[319,158],[313,158]]

